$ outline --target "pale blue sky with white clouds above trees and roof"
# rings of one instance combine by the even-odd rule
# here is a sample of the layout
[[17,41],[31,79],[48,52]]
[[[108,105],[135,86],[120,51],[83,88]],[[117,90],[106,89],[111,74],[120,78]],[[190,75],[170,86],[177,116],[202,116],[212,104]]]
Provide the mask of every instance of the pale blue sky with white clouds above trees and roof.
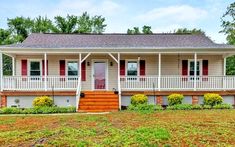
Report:
[[133,26],[150,25],[154,33],[177,28],[201,28],[217,43],[226,43],[218,33],[220,18],[233,0],[5,0],[0,2],[0,27],[16,16],[53,18],[57,15],[91,15],[106,18],[106,32],[124,33]]

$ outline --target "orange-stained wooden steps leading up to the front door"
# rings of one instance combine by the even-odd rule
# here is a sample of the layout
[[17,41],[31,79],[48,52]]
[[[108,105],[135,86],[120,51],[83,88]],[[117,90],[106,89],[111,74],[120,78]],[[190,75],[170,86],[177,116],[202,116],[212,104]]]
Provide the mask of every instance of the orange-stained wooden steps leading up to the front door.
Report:
[[118,95],[112,91],[84,91],[80,98],[78,112],[113,112],[118,111]]

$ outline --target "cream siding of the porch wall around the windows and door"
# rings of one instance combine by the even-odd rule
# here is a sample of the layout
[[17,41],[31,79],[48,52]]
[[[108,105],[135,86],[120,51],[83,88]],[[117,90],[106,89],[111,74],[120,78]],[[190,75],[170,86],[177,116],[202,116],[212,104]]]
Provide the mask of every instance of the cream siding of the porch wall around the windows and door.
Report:
[[[155,55],[126,55],[121,54],[121,60],[138,59],[146,61],[146,75],[158,74],[158,54]],[[21,75],[22,59],[41,59],[43,55],[16,56],[16,75]],[[48,55],[49,75],[59,75],[59,60],[76,59],[79,55]],[[86,59],[86,81],[82,82],[82,90],[92,90],[92,59],[108,59],[108,90],[117,89],[117,63],[107,54],[91,55]],[[193,55],[162,55],[162,75],[181,75],[182,60],[193,59]],[[198,55],[198,59],[209,60],[209,75],[223,74],[223,58],[221,55]],[[113,66],[110,65],[113,63]]]

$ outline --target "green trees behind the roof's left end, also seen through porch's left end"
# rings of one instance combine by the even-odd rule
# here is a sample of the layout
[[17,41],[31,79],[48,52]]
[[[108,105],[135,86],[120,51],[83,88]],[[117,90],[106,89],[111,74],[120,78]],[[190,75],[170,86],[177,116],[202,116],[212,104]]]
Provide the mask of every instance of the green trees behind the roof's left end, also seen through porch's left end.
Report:
[[[56,16],[54,20],[46,16],[36,18],[15,17],[7,19],[7,29],[0,28],[0,45],[19,43],[24,41],[31,33],[103,33],[105,31],[105,18],[90,16],[84,12],[81,16]],[[12,73],[11,58],[3,55],[3,73]]]

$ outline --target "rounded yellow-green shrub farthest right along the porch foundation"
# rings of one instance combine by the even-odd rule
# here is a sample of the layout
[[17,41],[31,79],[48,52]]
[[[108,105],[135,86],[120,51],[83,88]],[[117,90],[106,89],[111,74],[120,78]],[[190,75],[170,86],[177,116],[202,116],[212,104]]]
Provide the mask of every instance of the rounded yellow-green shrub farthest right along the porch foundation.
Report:
[[216,93],[206,93],[204,94],[204,104],[205,105],[218,105],[223,103],[223,98]]

